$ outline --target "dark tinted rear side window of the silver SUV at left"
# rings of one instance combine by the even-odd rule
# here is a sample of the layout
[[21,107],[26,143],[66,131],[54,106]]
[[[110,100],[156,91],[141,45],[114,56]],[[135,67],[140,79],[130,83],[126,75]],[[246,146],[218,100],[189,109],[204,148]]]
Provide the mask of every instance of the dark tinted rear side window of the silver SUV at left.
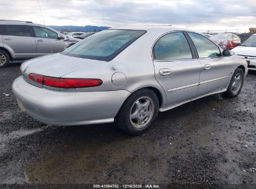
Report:
[[6,25],[5,35],[31,37],[29,25]]

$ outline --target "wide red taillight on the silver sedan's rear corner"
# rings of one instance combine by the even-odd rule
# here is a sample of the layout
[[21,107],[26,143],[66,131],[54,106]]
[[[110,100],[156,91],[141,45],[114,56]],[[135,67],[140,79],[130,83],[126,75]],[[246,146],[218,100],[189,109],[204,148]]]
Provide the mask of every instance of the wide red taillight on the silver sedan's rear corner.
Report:
[[102,85],[102,80],[99,79],[54,78],[35,73],[29,74],[29,78],[36,83],[55,88],[86,88]]

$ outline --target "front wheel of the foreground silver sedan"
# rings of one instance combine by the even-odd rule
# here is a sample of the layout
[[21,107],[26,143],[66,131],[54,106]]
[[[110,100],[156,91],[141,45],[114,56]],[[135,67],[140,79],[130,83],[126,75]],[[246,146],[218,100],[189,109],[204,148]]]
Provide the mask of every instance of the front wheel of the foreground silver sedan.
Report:
[[234,98],[242,90],[244,85],[244,71],[241,68],[237,68],[232,75],[232,78],[229,83],[229,88],[225,91],[225,96],[229,98]]

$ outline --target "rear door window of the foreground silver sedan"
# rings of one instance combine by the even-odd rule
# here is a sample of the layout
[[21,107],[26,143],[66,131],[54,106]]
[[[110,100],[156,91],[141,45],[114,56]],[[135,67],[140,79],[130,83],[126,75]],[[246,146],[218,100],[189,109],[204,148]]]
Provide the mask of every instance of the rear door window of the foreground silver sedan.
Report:
[[192,53],[183,32],[173,32],[161,37],[154,44],[155,60],[191,59]]

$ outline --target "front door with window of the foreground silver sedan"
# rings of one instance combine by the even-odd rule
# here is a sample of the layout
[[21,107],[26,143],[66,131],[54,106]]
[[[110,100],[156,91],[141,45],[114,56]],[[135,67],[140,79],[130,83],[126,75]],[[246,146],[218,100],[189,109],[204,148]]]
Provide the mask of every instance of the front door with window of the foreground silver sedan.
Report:
[[207,37],[194,32],[187,32],[187,34],[196,47],[202,64],[197,96],[225,88],[229,83],[232,68],[230,57],[222,57],[219,47]]

